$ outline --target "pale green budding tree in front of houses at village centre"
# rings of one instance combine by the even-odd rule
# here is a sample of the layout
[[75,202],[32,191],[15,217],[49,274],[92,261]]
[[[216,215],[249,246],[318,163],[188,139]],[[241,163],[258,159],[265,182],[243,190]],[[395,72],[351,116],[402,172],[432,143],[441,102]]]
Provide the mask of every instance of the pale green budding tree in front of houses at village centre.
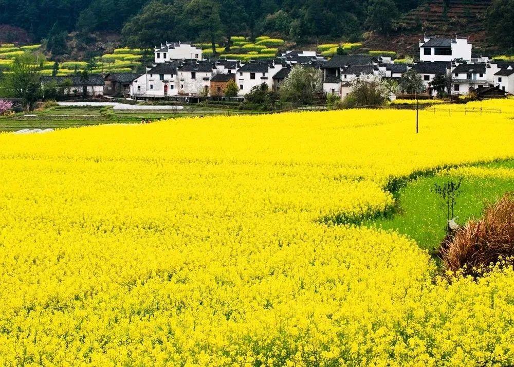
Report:
[[295,104],[309,104],[313,102],[314,94],[322,90],[322,86],[320,70],[297,65],[280,86],[280,99]]

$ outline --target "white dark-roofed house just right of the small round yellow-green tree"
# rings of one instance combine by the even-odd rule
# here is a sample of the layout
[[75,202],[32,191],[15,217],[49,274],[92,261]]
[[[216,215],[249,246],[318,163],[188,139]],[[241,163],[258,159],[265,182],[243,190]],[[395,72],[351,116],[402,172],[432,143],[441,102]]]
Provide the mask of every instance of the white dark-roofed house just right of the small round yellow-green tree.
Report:
[[283,65],[273,60],[250,61],[237,69],[235,82],[239,87],[238,95],[244,96],[256,86],[265,83],[273,88],[273,76],[282,69]]

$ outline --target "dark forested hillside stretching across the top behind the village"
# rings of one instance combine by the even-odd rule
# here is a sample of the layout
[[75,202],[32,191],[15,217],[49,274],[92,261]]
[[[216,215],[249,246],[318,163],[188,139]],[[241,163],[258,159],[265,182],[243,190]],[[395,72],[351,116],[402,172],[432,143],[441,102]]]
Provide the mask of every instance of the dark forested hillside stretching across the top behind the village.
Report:
[[[363,32],[390,35],[423,30],[461,32],[469,22],[486,28],[491,0],[0,0],[0,26],[27,32],[50,45],[76,32],[121,34],[123,42],[150,47],[165,40],[221,42],[233,34],[277,34],[292,42],[344,38]],[[514,0],[492,0],[497,13],[512,22]],[[503,14],[503,15],[502,15]],[[502,25],[495,15],[491,28]],[[493,32],[498,36],[498,32]],[[509,34],[498,39],[509,39]],[[1,36],[1,34],[0,34]],[[511,38],[510,38],[511,39]],[[0,40],[2,41],[2,40]],[[508,43],[508,42],[507,42]],[[511,47],[508,44],[502,45]],[[59,47],[54,47],[59,53]]]

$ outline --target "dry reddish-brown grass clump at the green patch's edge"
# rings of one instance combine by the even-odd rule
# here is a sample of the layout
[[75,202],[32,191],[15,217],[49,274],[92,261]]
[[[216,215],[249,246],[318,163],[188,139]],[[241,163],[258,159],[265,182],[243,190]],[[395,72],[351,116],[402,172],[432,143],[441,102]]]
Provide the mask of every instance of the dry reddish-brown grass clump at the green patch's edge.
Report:
[[514,194],[506,194],[489,205],[484,217],[458,229],[443,243],[443,264],[447,270],[479,275],[491,264],[514,256]]

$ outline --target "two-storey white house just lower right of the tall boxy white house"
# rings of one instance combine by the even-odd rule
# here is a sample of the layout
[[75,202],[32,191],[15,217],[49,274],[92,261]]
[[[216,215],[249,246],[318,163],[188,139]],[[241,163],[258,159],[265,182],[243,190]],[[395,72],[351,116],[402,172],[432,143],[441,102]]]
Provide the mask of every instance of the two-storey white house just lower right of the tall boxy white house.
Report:
[[451,74],[451,93],[465,95],[479,86],[489,85],[487,67],[488,65],[485,63],[457,65]]

